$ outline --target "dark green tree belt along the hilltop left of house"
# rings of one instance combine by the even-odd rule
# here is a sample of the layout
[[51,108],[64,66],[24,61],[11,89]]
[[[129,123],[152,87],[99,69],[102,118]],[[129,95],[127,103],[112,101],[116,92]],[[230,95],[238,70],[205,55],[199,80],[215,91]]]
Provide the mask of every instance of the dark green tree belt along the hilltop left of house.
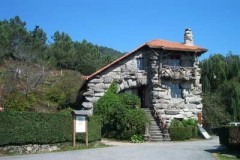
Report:
[[122,54],[86,40],[74,42],[64,32],[56,31],[49,43],[46,33],[36,26],[28,31],[19,17],[0,21],[0,60],[31,61],[58,69],[77,70],[88,75]]

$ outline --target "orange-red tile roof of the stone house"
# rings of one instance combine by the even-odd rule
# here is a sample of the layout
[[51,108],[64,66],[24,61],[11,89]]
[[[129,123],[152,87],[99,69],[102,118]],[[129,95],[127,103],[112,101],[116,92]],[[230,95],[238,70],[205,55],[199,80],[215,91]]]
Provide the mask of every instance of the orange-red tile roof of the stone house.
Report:
[[152,40],[150,42],[147,42],[137,49],[129,52],[128,54],[123,55],[122,57],[118,58],[117,60],[113,61],[112,63],[108,64],[107,66],[99,69],[98,71],[94,72],[93,74],[89,76],[85,76],[86,80],[91,80],[94,76],[98,75],[99,73],[105,71],[106,69],[110,68],[114,64],[117,64],[121,60],[129,57],[133,53],[135,53],[137,50],[148,46],[149,48],[160,48],[162,50],[168,50],[168,51],[184,51],[184,52],[192,52],[192,53],[197,53],[198,55],[203,54],[204,52],[207,51],[207,49],[199,47],[199,46],[188,46],[182,43],[177,43],[177,42],[170,42],[166,40]]

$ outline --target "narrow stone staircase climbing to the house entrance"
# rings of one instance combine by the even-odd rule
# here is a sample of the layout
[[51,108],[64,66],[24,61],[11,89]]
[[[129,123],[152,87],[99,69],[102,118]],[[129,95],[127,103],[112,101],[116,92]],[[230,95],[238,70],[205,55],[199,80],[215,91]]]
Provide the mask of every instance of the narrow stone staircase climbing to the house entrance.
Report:
[[162,131],[160,130],[156,120],[152,116],[150,108],[142,108],[145,113],[147,114],[149,120],[150,120],[150,125],[149,125],[149,137],[148,140],[152,142],[159,142],[163,141],[163,134]]

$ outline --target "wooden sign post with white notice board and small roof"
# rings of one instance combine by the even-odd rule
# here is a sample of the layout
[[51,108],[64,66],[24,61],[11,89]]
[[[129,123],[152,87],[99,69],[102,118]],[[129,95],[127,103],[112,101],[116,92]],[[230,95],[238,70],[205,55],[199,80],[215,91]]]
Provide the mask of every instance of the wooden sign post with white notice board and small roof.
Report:
[[72,112],[73,116],[73,147],[76,146],[76,133],[85,133],[85,144],[88,146],[88,115],[87,111]]

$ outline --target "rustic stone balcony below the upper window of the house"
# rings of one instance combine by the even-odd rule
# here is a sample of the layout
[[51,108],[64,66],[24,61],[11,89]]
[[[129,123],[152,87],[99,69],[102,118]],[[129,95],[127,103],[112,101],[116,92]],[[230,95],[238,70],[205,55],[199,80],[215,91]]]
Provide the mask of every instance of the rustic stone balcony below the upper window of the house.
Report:
[[161,77],[166,79],[179,79],[179,80],[194,80],[194,68],[193,67],[181,67],[163,65],[160,70]]

